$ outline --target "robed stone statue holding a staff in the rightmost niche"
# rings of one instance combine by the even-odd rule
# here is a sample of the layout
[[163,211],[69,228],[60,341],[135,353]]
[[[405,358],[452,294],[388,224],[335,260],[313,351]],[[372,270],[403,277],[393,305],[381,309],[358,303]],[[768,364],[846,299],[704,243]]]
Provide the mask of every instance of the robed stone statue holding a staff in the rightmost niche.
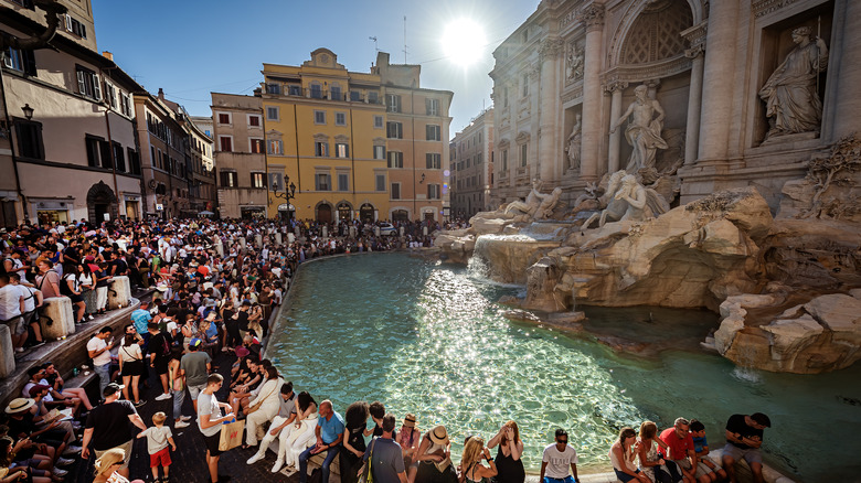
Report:
[[828,67],[828,47],[822,39],[811,36],[809,26],[795,29],[793,42],[798,46],[789,52],[759,90],[770,125],[766,139],[818,132],[822,120],[817,78]]

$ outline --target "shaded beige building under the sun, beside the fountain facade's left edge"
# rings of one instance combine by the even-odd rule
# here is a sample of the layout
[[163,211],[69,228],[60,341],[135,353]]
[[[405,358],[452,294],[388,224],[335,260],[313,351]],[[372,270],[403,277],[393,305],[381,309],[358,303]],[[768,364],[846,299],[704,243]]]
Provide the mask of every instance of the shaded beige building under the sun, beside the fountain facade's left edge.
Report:
[[451,139],[451,216],[469,218],[496,210],[493,184],[493,108],[479,114]]

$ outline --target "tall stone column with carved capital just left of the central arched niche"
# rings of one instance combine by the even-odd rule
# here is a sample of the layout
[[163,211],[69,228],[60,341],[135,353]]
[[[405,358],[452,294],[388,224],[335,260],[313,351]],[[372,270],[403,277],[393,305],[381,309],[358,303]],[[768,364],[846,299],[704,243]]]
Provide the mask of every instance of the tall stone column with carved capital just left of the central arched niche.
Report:
[[600,73],[604,6],[592,3],[584,8],[578,20],[586,28],[586,47],[583,73],[583,143],[580,150],[580,178],[594,181],[598,178],[598,153],[603,140],[600,125]]

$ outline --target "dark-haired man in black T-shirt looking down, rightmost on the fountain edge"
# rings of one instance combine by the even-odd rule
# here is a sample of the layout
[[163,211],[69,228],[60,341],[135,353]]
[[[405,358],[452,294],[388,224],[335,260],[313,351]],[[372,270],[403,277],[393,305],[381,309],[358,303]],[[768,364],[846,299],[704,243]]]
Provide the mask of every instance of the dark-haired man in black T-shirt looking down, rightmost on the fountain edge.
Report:
[[772,427],[772,420],[762,412],[732,415],[726,421],[726,446],[723,448],[723,468],[735,483],[735,463],[744,459],[751,466],[756,483],[763,480],[763,431]]

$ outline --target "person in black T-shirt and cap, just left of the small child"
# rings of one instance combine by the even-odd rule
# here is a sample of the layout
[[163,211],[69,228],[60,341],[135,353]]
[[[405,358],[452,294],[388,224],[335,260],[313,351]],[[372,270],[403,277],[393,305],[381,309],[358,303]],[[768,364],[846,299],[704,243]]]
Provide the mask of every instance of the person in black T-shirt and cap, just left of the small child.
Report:
[[110,383],[102,391],[105,402],[93,408],[87,415],[87,421],[84,430],[84,443],[81,457],[89,458],[89,448],[96,452],[96,458],[100,458],[106,451],[113,448],[119,448],[124,451],[125,459],[121,466],[117,470],[123,476],[128,477],[128,463],[131,460],[131,447],[134,439],[128,421],[146,430],[147,426],[138,416],[131,401],[119,398],[123,386]]

